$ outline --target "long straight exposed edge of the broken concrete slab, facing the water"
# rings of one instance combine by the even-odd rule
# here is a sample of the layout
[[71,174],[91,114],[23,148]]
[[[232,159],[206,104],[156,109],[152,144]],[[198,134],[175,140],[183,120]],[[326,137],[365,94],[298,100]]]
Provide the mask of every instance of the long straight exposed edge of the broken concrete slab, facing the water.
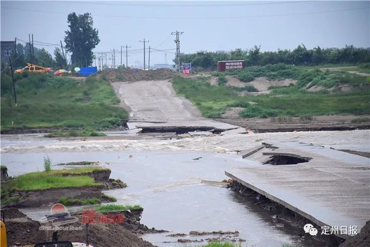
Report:
[[[253,186],[253,185],[251,185],[251,184],[249,184],[249,183],[241,180],[241,179],[236,178],[234,175],[232,175],[231,173],[229,173],[227,171],[225,171],[225,175],[227,175],[229,178],[235,180],[236,182],[241,183],[244,186],[246,186],[246,187],[248,187],[248,188],[256,191],[257,193],[260,193],[262,196],[265,196],[266,198],[268,198],[268,199],[270,199],[270,200],[272,200],[274,202],[277,202],[277,203],[283,205],[284,207],[286,207],[286,208],[292,210],[293,212],[301,215],[302,217],[304,217],[304,218],[306,218],[306,219],[308,219],[308,220],[316,223],[319,226],[328,226],[328,224],[325,224],[324,222],[316,219],[315,217],[312,217],[311,215],[309,215],[309,214],[305,213],[304,211],[300,210],[299,208],[294,207],[294,206],[290,205],[289,203],[287,203],[287,202],[285,202],[285,201],[283,201],[283,200],[281,200],[281,199],[279,199],[277,197],[274,197],[274,196],[270,195],[266,191],[264,191],[262,189],[259,189],[259,188],[255,187],[255,186]],[[338,236],[338,237],[340,237],[340,238],[343,238],[343,239],[347,239],[349,237],[348,235],[340,235],[340,234],[335,234],[335,235]]]

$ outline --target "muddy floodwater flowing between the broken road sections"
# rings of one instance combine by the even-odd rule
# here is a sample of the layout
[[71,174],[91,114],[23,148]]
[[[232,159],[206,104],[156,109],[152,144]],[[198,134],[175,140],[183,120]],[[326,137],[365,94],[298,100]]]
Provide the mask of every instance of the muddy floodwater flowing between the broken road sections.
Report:
[[[295,229],[275,223],[274,213],[261,210],[253,202],[221,187],[200,184],[201,180],[221,181],[224,171],[245,167],[253,161],[235,153],[269,139],[299,140],[336,149],[368,151],[369,131],[262,133],[194,137],[185,139],[50,139],[40,135],[3,135],[1,164],[9,175],[43,170],[43,156],[53,164],[99,161],[112,169],[111,178],[121,179],[128,187],[105,191],[117,203],[140,204],[141,223],[171,231],[146,234],[143,239],[159,246],[181,246],[181,237],[171,233],[190,231],[239,231],[243,246],[311,246]],[[198,150],[198,151],[196,151]],[[194,158],[198,160],[193,160]],[[55,166],[54,169],[62,167]],[[23,209],[33,219],[48,214],[49,209]],[[212,236],[182,237],[205,239]],[[189,243],[188,243],[189,244]],[[204,243],[196,243],[197,245]],[[193,244],[194,245],[194,244]]]

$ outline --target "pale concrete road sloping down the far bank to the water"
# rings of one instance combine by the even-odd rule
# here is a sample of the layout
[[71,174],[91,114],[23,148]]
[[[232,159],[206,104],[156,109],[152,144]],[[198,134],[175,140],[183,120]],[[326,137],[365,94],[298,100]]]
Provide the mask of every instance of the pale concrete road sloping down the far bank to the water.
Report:
[[112,85],[131,120],[205,119],[188,99],[176,95],[168,80],[113,82]]

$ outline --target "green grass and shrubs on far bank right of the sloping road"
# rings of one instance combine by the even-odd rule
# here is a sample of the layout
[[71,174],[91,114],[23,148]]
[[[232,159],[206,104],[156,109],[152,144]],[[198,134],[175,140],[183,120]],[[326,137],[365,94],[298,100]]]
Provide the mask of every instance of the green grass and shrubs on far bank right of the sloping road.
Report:
[[[192,101],[205,117],[220,117],[229,107],[240,105],[242,117],[301,115],[369,114],[370,90],[329,93],[309,92],[298,86],[272,90],[269,95],[238,96],[232,89],[207,82],[176,77],[172,84],[177,94]],[[279,96],[279,97],[274,97]],[[248,102],[256,102],[249,105]]]

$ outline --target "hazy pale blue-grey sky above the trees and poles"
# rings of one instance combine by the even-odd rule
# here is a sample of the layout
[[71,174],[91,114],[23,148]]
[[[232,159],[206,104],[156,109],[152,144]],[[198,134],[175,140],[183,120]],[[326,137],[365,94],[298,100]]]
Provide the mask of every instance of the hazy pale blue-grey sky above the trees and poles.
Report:
[[[1,1],[1,40],[28,41],[28,33],[33,33],[35,41],[59,44],[68,28],[67,14],[74,11],[93,15],[100,38],[95,51],[119,49],[116,65],[121,45],[142,49],[139,40],[144,38],[150,41],[146,48],[173,49],[152,49],[151,64],[164,63],[165,54],[172,63],[176,44],[171,32],[176,30],[184,32],[180,50],[185,53],[254,45],[261,45],[262,50],[292,49],[301,43],[307,48],[369,47],[369,7],[369,1]],[[54,49],[38,47],[51,53]],[[142,50],[129,53],[128,64],[142,63]],[[146,52],[146,64],[147,59]],[[124,56],[122,60],[125,63]]]

